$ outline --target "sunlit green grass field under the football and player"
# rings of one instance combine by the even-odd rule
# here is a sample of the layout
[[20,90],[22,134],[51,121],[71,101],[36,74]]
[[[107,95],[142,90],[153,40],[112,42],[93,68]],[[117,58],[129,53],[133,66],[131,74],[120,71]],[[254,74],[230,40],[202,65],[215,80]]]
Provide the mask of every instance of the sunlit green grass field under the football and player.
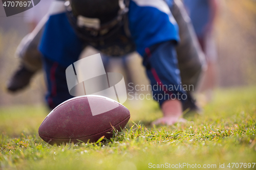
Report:
[[256,169],[256,87],[216,90],[202,116],[169,127],[148,125],[161,116],[153,101],[127,107],[135,124],[112,140],[60,147],[37,134],[47,109],[2,107],[0,169]]

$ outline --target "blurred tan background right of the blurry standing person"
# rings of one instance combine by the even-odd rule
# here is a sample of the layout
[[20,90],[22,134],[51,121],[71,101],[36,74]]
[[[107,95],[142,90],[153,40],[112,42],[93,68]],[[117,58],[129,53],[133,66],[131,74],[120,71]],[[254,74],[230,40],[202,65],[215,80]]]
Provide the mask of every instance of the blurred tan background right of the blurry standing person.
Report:
[[216,25],[219,85],[256,83],[256,1],[220,0]]

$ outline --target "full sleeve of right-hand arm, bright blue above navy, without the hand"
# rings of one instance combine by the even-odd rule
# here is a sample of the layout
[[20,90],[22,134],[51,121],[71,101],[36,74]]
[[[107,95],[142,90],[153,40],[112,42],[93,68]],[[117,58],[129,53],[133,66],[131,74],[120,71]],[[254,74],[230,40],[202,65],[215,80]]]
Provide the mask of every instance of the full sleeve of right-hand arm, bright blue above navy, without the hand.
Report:
[[[173,87],[177,90],[154,91],[159,97],[163,94],[181,93],[180,73],[177,66],[175,44],[179,41],[178,25],[167,4],[162,0],[130,2],[129,23],[138,53],[143,56],[147,76],[153,85]],[[155,95],[155,96],[156,96]],[[174,96],[174,95],[173,95]],[[160,105],[163,99],[156,99]]]

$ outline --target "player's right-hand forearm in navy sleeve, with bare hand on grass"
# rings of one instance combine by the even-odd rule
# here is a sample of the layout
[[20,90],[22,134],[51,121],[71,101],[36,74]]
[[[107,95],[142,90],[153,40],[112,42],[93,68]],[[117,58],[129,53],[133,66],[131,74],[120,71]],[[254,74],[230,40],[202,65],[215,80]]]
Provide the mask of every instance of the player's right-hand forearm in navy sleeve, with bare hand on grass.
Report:
[[154,124],[172,125],[182,116],[183,90],[174,41],[161,42],[145,48],[143,65],[151,81],[153,98],[159,102],[164,117]]

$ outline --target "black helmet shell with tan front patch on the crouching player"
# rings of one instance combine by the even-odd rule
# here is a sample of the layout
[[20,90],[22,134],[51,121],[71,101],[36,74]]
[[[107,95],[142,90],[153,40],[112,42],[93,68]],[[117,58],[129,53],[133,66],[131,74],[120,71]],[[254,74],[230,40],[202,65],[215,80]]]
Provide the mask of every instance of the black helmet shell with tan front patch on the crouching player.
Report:
[[70,0],[65,6],[78,35],[82,39],[97,41],[109,37],[123,25],[123,18],[129,11],[129,0]]

